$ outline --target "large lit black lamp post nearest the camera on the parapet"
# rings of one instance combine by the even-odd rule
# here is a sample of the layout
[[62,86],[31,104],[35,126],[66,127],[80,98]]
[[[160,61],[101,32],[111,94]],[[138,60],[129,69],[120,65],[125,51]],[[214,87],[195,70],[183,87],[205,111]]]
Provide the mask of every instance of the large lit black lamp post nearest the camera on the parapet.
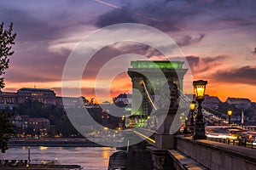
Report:
[[205,99],[207,81],[194,81],[193,86],[195,90],[195,100],[198,102],[197,114],[195,118],[194,139],[207,139],[207,136],[205,134],[205,122],[203,121],[203,115],[201,112],[201,103]]

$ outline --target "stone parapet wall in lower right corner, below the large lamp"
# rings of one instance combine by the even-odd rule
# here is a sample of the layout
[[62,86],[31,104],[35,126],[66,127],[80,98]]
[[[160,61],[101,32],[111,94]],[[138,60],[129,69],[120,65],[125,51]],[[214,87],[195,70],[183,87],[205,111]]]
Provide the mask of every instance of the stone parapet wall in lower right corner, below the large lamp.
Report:
[[177,150],[212,170],[256,169],[256,151],[207,139],[176,136]]

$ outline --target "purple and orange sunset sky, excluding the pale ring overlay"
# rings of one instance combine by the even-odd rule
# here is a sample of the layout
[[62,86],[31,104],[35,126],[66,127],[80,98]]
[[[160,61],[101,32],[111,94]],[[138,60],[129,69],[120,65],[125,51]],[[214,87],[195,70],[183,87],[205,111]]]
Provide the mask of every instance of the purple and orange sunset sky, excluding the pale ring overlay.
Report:
[[[255,8],[254,0],[1,1],[0,21],[5,26],[13,22],[17,33],[15,54],[10,58],[4,75],[6,87],[2,90],[36,86],[61,95],[64,65],[84,37],[104,26],[139,23],[159,29],[177,42],[189,62],[193,79],[208,81],[207,94],[222,101],[228,97],[256,101]],[[143,32],[137,34],[153,38]],[[96,44],[102,42],[97,40]],[[102,48],[84,70],[82,94],[87,98],[94,96],[98,71],[113,57],[131,53],[163,59],[153,48],[136,42]],[[109,71],[118,66],[127,71],[126,64],[135,58],[123,59],[118,64],[112,62],[113,66],[110,63]],[[101,80],[100,84],[110,83],[112,97],[131,92],[131,79],[124,71],[118,72],[117,77]],[[97,90],[109,92],[103,85]],[[103,94],[100,98],[97,100],[110,101]]]

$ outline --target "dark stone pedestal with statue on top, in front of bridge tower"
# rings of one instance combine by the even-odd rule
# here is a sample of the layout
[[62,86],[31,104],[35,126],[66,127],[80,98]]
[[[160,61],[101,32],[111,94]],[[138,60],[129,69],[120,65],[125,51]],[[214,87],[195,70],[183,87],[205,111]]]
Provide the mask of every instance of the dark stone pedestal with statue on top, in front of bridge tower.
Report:
[[[157,111],[160,127],[158,127],[157,133],[155,134],[155,145],[147,148],[154,161],[154,170],[175,169],[170,156],[168,156],[168,150],[174,150],[176,148],[176,138],[171,133],[171,128],[175,116],[179,113],[177,111],[179,97],[177,94],[177,85],[170,82],[168,86],[170,88],[172,102],[167,110],[164,108],[161,111]],[[165,114],[166,111],[167,115]]]

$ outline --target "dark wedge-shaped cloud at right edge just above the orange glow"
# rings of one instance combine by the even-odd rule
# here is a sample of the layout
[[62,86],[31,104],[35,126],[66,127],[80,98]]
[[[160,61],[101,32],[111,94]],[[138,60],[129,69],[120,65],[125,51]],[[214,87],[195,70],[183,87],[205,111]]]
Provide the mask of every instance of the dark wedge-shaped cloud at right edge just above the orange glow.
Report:
[[240,84],[256,84],[256,66],[243,66],[230,71],[217,71],[212,78],[219,82],[240,83]]

